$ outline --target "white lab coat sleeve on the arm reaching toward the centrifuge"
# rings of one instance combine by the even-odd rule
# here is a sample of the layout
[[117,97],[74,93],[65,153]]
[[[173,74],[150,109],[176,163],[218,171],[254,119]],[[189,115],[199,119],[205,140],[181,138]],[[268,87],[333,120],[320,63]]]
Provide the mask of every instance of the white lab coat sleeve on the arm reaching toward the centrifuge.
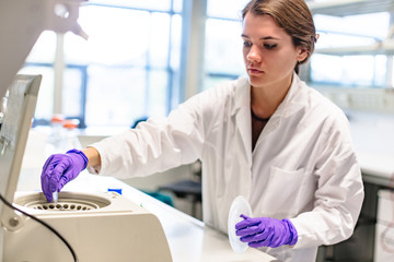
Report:
[[201,93],[173,110],[167,118],[150,118],[136,129],[105,139],[90,146],[101,156],[101,166],[90,172],[127,178],[193,163],[198,159],[209,124],[211,99]]

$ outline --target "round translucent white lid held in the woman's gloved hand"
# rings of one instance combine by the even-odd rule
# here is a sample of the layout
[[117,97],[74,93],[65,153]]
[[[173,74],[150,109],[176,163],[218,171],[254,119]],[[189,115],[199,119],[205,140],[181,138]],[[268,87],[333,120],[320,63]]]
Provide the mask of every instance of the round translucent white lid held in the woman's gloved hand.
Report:
[[239,195],[231,203],[228,219],[229,240],[231,248],[235,253],[243,253],[247,250],[247,243],[242,242],[240,240],[240,237],[236,236],[235,233],[235,225],[242,221],[242,214],[247,214],[248,216],[252,216],[252,209],[247,200],[244,196]]

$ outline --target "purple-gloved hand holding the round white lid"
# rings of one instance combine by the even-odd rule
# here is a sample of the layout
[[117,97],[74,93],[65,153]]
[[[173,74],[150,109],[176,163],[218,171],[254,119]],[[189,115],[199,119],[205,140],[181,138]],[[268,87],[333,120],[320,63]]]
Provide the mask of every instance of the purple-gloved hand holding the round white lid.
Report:
[[282,245],[296,245],[298,234],[289,219],[278,221],[269,217],[251,218],[241,215],[244,221],[235,225],[236,236],[252,248],[277,248]]

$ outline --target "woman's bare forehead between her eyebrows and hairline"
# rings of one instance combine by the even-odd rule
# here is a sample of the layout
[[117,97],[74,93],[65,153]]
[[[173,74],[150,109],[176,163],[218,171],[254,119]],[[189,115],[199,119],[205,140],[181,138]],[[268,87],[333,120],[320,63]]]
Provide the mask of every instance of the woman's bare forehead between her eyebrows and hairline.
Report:
[[283,28],[281,28],[273,19],[273,16],[265,15],[255,15],[253,13],[247,13],[243,21],[242,35],[250,38],[264,38],[264,37],[275,37],[275,38],[288,38],[290,37]]

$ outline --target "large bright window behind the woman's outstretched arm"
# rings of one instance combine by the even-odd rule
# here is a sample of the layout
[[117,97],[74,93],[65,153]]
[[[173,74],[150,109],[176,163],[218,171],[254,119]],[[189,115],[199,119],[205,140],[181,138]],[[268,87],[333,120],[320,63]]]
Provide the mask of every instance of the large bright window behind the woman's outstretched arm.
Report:
[[90,1],[81,7],[79,23],[89,40],[72,33],[59,43],[55,33],[51,41],[40,37],[23,69],[48,70],[45,94],[43,88],[39,93],[46,103],[38,100],[35,118],[48,121],[55,111],[56,44],[63,48],[66,117],[79,118],[81,127],[130,127],[143,116],[165,116],[179,103],[181,11],[182,0]]

